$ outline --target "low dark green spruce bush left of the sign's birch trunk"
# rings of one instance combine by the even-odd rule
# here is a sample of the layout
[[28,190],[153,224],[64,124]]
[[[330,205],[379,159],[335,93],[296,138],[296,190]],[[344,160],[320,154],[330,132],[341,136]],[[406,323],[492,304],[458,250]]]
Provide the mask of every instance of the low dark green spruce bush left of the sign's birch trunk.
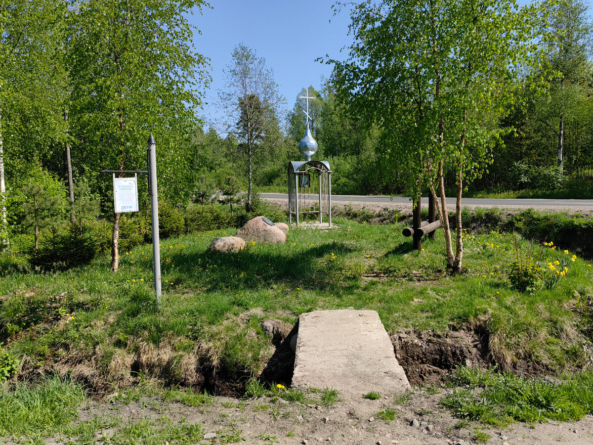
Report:
[[40,271],[69,269],[87,264],[98,251],[97,238],[86,225],[69,224],[65,230],[53,227],[42,237],[39,249],[33,252],[29,263]]

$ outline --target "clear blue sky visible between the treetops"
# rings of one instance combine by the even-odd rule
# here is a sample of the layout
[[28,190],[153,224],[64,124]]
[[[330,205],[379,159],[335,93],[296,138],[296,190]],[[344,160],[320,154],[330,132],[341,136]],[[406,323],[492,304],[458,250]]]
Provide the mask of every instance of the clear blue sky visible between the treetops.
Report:
[[328,77],[331,66],[315,59],[326,53],[338,58],[340,48],[352,42],[346,35],[348,11],[334,17],[333,4],[334,0],[211,0],[212,9],[190,17],[202,31],[194,36],[196,50],[211,58],[212,65],[212,84],[206,91],[209,105],[198,114],[206,121],[215,115],[216,90],[224,87],[222,70],[240,42],[266,59],[287,109],[292,109],[302,87],[318,88],[321,75]]

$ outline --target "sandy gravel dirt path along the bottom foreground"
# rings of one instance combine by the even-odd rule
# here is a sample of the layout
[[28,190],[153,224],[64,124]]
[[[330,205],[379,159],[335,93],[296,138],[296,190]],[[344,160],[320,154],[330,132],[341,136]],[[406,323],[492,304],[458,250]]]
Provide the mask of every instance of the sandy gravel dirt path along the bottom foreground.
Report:
[[[204,433],[215,433],[215,438],[199,441],[200,444],[460,444],[483,443],[487,439],[494,445],[519,444],[591,444],[593,443],[593,416],[587,415],[579,422],[525,425],[514,424],[508,428],[488,428],[478,424],[464,424],[439,405],[442,396],[451,390],[419,390],[401,396],[382,397],[379,400],[344,400],[331,406],[312,403],[273,400],[267,396],[251,399],[213,398],[213,402],[195,408],[178,402],[164,402],[156,398],[144,398],[127,405],[120,403],[90,402],[80,412],[81,421],[94,418],[121,418],[119,427],[98,430],[97,443],[110,440],[128,422],[141,418],[155,422],[199,422]],[[315,397],[316,395],[310,395]],[[378,418],[382,409],[392,409],[394,420]],[[410,422],[417,419],[431,425],[423,433],[421,427]],[[484,436],[487,434],[487,436]],[[209,437],[209,436],[206,436]],[[232,439],[231,437],[235,437]],[[231,440],[231,441],[229,441]],[[46,444],[77,443],[76,437],[53,437]],[[10,443],[10,442],[8,442]]]

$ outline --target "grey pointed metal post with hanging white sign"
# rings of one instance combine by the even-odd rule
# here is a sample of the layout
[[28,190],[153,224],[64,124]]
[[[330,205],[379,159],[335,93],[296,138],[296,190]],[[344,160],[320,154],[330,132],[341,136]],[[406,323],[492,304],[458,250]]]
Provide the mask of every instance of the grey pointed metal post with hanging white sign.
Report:
[[[146,158],[148,170],[101,170],[113,173],[113,205],[116,213],[138,212],[138,173],[148,173],[148,194],[151,195],[152,216],[152,272],[154,292],[157,296],[158,310],[161,310],[161,249],[158,236],[158,195],[157,195],[157,144],[154,136],[148,138]],[[134,177],[115,177],[116,173],[134,173]]]

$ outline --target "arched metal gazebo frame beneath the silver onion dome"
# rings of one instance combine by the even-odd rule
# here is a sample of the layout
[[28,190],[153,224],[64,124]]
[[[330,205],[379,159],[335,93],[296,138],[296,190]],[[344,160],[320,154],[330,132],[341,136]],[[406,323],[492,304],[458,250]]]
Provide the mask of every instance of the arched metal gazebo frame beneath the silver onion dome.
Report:
[[[312,193],[313,192],[313,193]],[[327,161],[291,161],[288,163],[288,222],[295,216],[318,214],[319,223],[327,215],[331,227],[331,170]]]

